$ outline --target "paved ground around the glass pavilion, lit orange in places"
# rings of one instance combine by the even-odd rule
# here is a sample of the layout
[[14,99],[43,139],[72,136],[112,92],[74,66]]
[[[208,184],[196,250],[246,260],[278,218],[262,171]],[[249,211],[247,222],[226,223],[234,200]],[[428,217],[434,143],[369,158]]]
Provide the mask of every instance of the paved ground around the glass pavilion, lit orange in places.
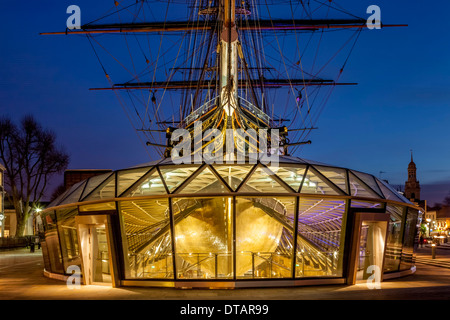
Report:
[[[437,250],[436,261],[450,262],[450,251]],[[69,289],[65,282],[43,276],[41,250],[0,252],[0,300],[427,300],[450,299],[450,268],[435,267],[431,249],[421,248],[421,261],[413,275],[387,280],[381,289],[370,290],[365,283],[295,288],[235,290],[181,290],[173,288],[111,288],[81,286]]]

